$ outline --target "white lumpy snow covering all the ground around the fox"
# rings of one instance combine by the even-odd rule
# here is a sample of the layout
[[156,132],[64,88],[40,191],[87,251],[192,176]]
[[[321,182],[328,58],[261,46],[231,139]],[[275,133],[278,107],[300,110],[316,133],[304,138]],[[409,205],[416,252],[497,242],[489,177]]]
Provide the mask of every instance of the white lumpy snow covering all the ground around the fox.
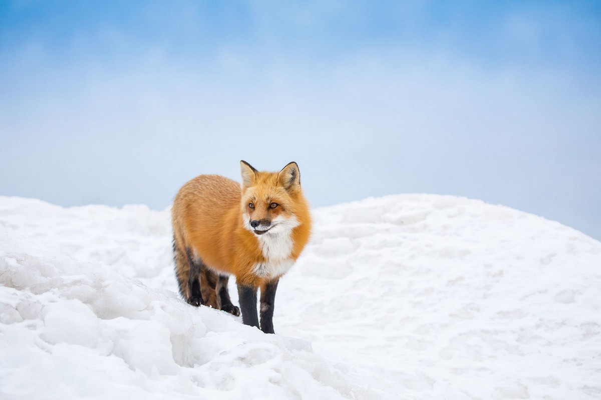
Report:
[[314,219],[263,335],[178,299],[168,210],[0,197],[0,398],[601,398],[600,242],[451,196]]

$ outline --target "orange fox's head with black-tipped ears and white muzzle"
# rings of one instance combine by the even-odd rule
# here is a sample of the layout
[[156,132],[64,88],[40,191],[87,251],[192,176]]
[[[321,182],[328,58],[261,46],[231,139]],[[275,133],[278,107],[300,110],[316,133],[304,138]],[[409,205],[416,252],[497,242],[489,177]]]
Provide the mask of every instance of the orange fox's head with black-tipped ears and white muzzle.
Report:
[[278,234],[300,224],[297,217],[306,203],[296,163],[288,163],[280,172],[259,172],[240,161],[240,172],[246,229],[257,235]]

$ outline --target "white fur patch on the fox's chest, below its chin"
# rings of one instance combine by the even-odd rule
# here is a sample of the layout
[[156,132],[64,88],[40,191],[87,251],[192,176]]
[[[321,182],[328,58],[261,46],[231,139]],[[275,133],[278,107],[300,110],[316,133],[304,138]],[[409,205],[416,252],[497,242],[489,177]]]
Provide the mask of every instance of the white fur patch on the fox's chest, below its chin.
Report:
[[265,261],[255,265],[255,274],[265,278],[275,278],[284,275],[294,264],[292,253],[291,231],[284,230],[277,233],[266,233],[258,236],[259,246]]

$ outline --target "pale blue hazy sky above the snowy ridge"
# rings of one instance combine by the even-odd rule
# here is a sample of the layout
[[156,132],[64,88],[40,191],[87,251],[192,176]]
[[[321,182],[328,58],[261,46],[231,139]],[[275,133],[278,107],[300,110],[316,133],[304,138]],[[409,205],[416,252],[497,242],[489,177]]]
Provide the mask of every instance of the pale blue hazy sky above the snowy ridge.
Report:
[[599,2],[0,2],[0,194],[164,209],[240,159],[311,204],[501,203],[601,239]]

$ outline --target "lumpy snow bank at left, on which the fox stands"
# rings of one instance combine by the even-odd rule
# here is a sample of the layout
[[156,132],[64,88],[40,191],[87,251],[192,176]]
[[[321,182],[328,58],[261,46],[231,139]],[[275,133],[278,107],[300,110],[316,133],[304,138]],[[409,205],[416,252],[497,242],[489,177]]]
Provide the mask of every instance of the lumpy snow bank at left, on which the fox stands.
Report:
[[134,277],[173,280],[168,213],[0,198],[2,398],[373,398],[301,339]]

